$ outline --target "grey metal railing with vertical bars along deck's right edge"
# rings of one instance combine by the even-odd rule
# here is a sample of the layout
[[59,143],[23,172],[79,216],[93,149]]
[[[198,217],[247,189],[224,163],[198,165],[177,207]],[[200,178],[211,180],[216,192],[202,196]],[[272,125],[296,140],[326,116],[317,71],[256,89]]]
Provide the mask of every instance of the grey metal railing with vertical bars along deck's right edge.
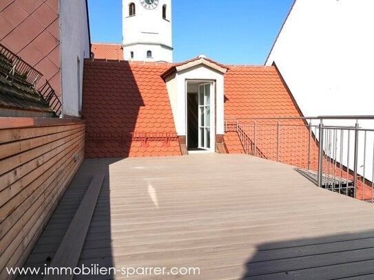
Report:
[[[360,127],[368,122],[368,128]],[[231,118],[249,155],[297,167],[318,186],[374,201],[374,116]]]

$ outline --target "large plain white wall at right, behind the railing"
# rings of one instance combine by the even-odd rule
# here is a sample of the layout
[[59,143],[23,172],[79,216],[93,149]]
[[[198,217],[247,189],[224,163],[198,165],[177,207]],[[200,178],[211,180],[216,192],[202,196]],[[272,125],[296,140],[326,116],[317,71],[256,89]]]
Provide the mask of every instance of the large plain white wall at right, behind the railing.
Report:
[[[304,116],[374,115],[373,12],[373,0],[295,1],[265,65],[276,63]],[[359,123],[374,128],[373,121]],[[331,124],[354,122],[325,122]],[[365,164],[363,138],[359,150],[358,165],[371,180],[373,149]]]

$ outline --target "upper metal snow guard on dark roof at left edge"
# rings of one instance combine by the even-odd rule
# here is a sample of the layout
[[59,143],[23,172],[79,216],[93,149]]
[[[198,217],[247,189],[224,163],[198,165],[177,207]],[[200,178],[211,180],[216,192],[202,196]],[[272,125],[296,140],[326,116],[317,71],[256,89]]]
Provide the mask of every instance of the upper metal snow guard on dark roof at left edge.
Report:
[[34,69],[30,64],[22,60],[20,56],[0,44],[0,72],[8,80],[16,80],[18,83],[35,87],[43,76],[41,72]]

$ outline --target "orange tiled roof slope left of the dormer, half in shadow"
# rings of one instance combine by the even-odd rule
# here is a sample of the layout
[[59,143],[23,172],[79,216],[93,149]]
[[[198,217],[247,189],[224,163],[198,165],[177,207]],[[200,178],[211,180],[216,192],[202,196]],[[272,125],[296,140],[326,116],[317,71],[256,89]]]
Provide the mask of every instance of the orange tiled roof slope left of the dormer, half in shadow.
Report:
[[168,67],[85,61],[87,157],[180,155],[169,96],[160,78]]

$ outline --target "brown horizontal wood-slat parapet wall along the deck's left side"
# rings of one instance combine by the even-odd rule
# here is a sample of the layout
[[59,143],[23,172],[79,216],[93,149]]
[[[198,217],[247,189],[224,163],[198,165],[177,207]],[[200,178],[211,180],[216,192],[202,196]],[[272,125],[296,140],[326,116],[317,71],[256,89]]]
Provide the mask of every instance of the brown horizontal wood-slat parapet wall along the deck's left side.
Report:
[[83,162],[84,139],[84,122],[0,129],[0,279],[28,257]]

